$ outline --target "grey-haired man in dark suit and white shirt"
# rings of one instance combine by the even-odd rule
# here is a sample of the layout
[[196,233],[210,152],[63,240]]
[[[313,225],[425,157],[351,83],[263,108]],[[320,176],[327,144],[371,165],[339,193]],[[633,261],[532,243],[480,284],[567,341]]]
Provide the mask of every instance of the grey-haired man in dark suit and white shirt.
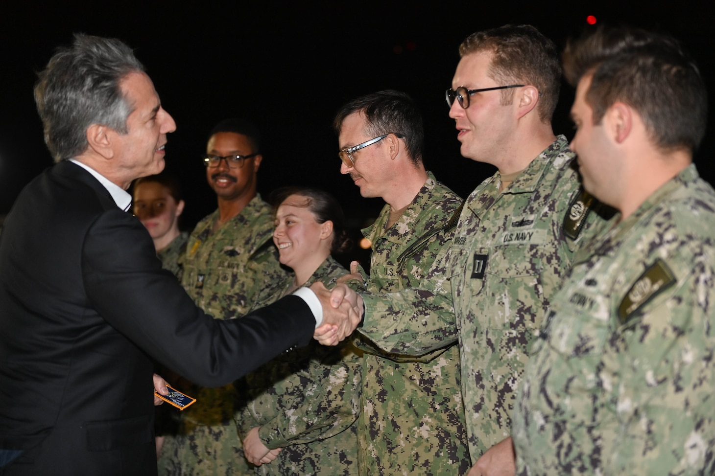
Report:
[[58,164],[0,239],[0,474],[153,475],[152,359],[225,385],[356,314],[322,288],[214,320],[162,271],[125,190],[163,169],[175,124],[122,42],[77,36],[35,99]]

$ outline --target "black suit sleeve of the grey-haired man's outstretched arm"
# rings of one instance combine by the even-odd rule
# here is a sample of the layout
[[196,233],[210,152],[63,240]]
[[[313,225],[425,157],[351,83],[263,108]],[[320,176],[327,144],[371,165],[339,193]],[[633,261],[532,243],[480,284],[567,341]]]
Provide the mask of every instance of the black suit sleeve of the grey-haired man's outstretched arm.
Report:
[[225,385],[289,347],[309,341],[310,308],[288,296],[241,319],[217,320],[197,308],[161,268],[138,219],[101,214],[82,249],[90,307],[144,352],[189,380]]

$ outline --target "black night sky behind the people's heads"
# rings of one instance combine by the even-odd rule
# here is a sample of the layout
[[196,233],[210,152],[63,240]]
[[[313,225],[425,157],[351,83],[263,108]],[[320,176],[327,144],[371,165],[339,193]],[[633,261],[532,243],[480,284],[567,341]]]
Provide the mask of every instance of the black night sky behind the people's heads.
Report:
[[[51,165],[34,108],[36,71],[73,32],[114,36],[135,49],[162,104],[177,122],[169,135],[167,170],[187,199],[184,228],[216,207],[200,157],[220,119],[245,116],[262,132],[259,191],[305,184],[335,194],[354,229],[383,202],[363,199],[340,175],[331,122],[346,101],[380,89],[400,89],[425,119],[425,165],[463,197],[493,174],[459,154],[444,91],[460,42],[480,29],[533,24],[563,48],[586,16],[598,24],[659,29],[684,42],[715,94],[712,1],[385,1],[313,2],[49,2],[0,0],[0,217],[21,188]],[[573,133],[564,84],[554,116],[556,134]],[[713,101],[710,101],[712,111]],[[712,113],[710,114],[712,118]],[[715,182],[709,134],[696,154],[701,175]],[[356,235],[356,237],[358,237]]]

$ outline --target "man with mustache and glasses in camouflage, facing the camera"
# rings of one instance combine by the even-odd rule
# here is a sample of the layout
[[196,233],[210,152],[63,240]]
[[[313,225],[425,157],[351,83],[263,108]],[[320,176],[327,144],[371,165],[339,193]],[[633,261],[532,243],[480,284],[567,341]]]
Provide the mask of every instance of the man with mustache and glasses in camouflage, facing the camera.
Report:
[[[189,237],[182,285],[215,319],[246,314],[260,301],[262,289],[285,274],[272,241],[270,205],[256,191],[262,159],[260,134],[243,119],[226,119],[209,134],[203,162],[218,209]],[[174,474],[178,467],[201,474],[254,473],[233,422],[237,388],[240,383],[185,389],[203,405],[182,412],[179,435],[167,438],[162,450],[159,474]]]

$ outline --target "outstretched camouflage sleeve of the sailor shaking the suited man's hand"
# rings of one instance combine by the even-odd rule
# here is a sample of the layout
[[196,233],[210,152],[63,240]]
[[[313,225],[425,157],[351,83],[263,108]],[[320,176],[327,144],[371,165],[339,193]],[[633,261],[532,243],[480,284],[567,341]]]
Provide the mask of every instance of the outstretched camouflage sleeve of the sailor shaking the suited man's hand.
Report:
[[395,354],[422,355],[456,342],[449,260],[446,248],[420,288],[363,292],[365,321],[360,332],[380,349]]

